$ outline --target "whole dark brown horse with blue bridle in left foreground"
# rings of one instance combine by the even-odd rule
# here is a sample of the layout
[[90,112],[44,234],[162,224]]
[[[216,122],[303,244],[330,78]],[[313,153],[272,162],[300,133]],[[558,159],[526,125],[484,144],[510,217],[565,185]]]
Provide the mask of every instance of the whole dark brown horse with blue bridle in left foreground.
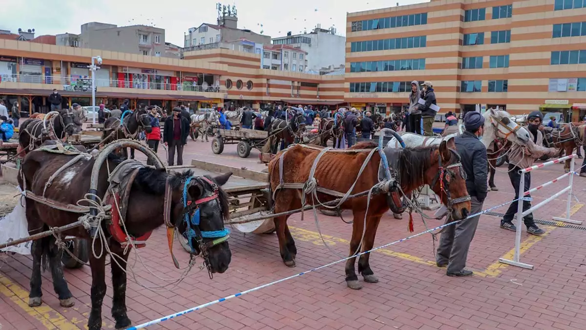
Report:
[[[50,144],[54,143],[53,141],[48,141],[43,144],[43,147],[50,147]],[[108,148],[108,150],[111,150],[111,148]],[[70,166],[65,166],[74,157],[79,156],[81,156],[79,160],[70,164]],[[31,199],[34,198],[31,193],[36,196],[44,196],[61,206],[75,206],[77,201],[84,198],[84,195],[90,190],[92,167],[95,160],[96,158],[86,157],[84,154],[78,154],[77,156],[74,154],[56,154],[43,151],[43,149],[30,151],[26,155],[18,181],[19,185],[28,191],[26,195],[26,218],[30,234],[48,230],[50,227],[60,227],[74,223],[78,220],[83,210],[77,211],[77,213],[76,211],[62,211],[41,203],[38,199]],[[114,154],[110,154],[105,162],[107,162],[107,166],[102,164],[97,178],[97,196],[104,196],[107,190],[110,191],[108,188],[107,168],[114,170],[121,163],[121,159],[118,156],[114,156]],[[117,329],[125,328],[131,324],[127,316],[125,303],[126,262],[130,253],[130,250],[127,251],[124,248],[125,240],[128,238],[125,233],[128,233],[133,240],[144,241],[163,222],[169,228],[178,228],[180,233],[185,233],[188,223],[184,220],[184,215],[189,214],[189,217],[191,217],[195,208],[199,207],[201,219],[198,224],[190,225],[192,227],[190,230],[195,228],[195,233],[198,233],[192,235],[192,246],[195,253],[199,254],[202,250],[205,251],[203,255],[210,272],[223,273],[227,270],[231,259],[227,236],[224,237],[226,239],[220,242],[214,241],[213,238],[203,238],[202,236],[202,233],[206,231],[224,230],[223,220],[229,216],[229,208],[226,194],[219,186],[226,183],[231,173],[212,179],[193,177],[191,171],[168,174],[164,169],[144,167],[138,162],[132,164],[134,164],[132,167],[127,167],[128,171],[124,171],[124,167],[122,167],[120,177],[127,178],[127,181],[122,181],[120,184],[122,193],[120,195],[118,193],[111,195],[112,198],[105,201],[105,203],[113,205],[112,224],[107,224],[105,221],[101,223],[105,239],[108,241],[108,247],[121,258],[120,260],[111,257],[112,284],[114,288],[112,316],[116,322],[115,327]],[[47,182],[50,180],[52,180],[52,183],[46,187]],[[169,188],[169,198],[165,197],[167,188]],[[114,201],[124,193],[127,197],[127,202],[124,201],[124,198],[120,198],[120,204],[118,205],[121,206],[121,211],[118,213],[117,203]],[[186,203],[190,205],[188,208],[183,206],[182,198],[184,194]],[[166,200],[169,203],[166,203]],[[124,228],[127,231],[122,231],[121,222],[124,223]],[[90,239],[88,231],[83,227],[64,231],[61,235]],[[51,236],[34,241],[32,244],[33,266],[29,294],[29,306],[31,307],[42,303],[41,266],[44,265],[46,268],[47,264],[51,270],[53,288],[59,297],[60,304],[64,307],[73,305],[71,292],[63,276],[60,251],[54,241],[55,238]],[[106,253],[104,252],[100,257],[96,257],[104,246],[103,241],[99,238],[95,243],[94,250],[90,251],[91,311],[87,324],[88,328],[92,330],[101,328],[101,310],[106,293]],[[117,262],[114,260],[117,260]],[[118,264],[121,266],[118,266]]]

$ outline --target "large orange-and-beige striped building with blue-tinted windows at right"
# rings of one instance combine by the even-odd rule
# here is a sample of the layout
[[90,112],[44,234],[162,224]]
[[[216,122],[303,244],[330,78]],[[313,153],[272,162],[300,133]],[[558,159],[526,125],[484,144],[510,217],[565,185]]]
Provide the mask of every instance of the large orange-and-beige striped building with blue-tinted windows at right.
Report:
[[431,0],[347,15],[345,100],[400,110],[430,80],[440,113],[586,115],[586,2]]

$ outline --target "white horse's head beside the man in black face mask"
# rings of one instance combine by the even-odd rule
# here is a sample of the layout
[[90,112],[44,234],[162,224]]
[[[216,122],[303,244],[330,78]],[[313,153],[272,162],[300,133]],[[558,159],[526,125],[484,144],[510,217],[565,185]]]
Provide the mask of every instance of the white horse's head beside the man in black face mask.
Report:
[[512,116],[504,110],[488,109],[483,114],[485,118],[484,135],[482,143],[488,147],[490,142],[497,137],[507,139],[520,145],[527,144],[530,140],[529,130],[512,120]]

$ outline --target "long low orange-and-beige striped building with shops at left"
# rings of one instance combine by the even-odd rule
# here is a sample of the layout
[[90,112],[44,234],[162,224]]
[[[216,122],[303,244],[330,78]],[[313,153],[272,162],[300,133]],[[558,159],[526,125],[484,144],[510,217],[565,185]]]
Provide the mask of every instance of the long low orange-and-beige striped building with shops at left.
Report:
[[166,109],[178,102],[257,109],[263,103],[343,103],[343,77],[261,69],[257,53],[210,49],[173,59],[6,39],[0,39],[0,98],[8,105],[19,102],[30,113],[47,112],[47,97],[57,89],[64,106],[90,105],[88,66],[98,55],[103,64],[96,72],[97,102],[108,106],[124,99],[133,107],[144,103]]

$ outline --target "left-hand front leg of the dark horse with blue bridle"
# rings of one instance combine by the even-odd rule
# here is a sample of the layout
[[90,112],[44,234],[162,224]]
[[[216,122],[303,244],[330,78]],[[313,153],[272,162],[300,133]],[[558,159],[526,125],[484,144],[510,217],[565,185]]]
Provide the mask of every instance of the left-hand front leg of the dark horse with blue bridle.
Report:
[[[96,241],[96,251],[101,250],[101,241]],[[105,282],[105,253],[101,258],[94,257],[90,253],[91,267],[91,310],[90,318],[87,320],[88,330],[99,330],[102,327],[102,304],[106,294]]]

